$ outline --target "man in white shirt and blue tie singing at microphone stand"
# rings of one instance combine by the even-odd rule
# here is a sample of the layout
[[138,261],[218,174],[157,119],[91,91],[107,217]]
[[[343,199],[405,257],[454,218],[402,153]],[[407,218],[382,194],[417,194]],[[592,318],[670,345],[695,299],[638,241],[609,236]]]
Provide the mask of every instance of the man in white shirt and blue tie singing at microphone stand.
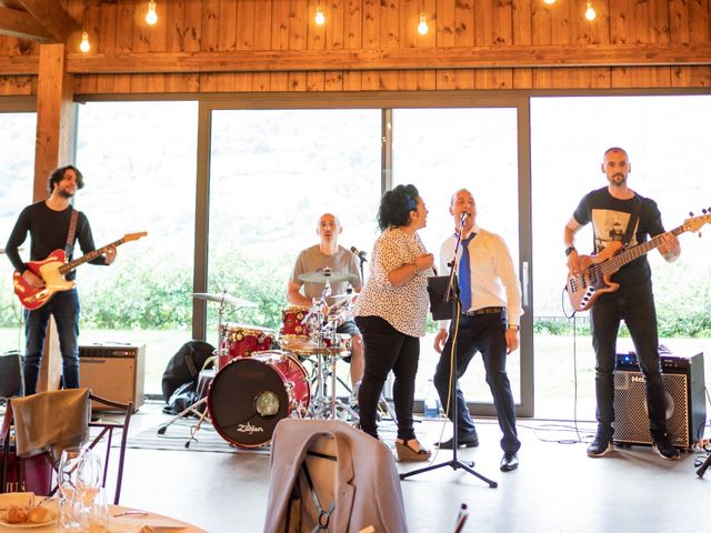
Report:
[[[487,383],[493,395],[499,426],[503,433],[501,447],[502,472],[519,466],[518,451],[521,442],[515,430],[515,408],[511,385],[507,375],[507,354],[519,348],[519,319],[521,308],[521,285],[515,274],[513,261],[507,244],[499,235],[482,230],[475,224],[477,204],[471,192],[460,189],[454,193],[449,208],[454,219],[455,233],[444,241],[440,251],[440,268],[448,272],[448,261],[454,257],[458,235],[462,241],[457,252],[457,275],[460,286],[461,316],[457,336],[457,380],[459,380],[477,352],[481,353],[487,373]],[[448,322],[440,324],[434,338],[434,350],[441,353],[434,372],[434,386],[442,405],[450,398],[450,368],[452,351],[452,328]],[[447,341],[447,342],[445,342]],[[444,349],[442,350],[442,344]],[[450,406],[450,420],[453,408]],[[457,383],[457,428],[458,445],[474,447],[479,438],[469,414],[464,394]],[[440,449],[451,450],[453,440],[440,442]]]

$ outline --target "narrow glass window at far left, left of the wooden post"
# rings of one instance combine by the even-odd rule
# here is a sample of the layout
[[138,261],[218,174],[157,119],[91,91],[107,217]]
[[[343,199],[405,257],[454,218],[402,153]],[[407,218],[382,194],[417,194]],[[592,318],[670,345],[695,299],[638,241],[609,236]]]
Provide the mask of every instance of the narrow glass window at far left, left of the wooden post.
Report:
[[[34,179],[34,135],[37,114],[0,112],[0,351],[22,350],[22,306],[12,291],[12,264],[4,257],[4,244],[20,211],[32,203]],[[28,260],[29,239],[20,255]]]

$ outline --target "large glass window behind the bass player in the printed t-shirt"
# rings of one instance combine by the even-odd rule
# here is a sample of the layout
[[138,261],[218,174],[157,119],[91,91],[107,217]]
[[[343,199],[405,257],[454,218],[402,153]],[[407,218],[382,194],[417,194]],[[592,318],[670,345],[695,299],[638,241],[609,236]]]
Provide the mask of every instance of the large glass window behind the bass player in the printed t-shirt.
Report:
[[[562,292],[567,276],[562,235],[581,198],[607,185],[601,170],[603,152],[615,145],[627,150],[629,185],[657,201],[664,225],[671,230],[682,224],[690,211],[702,214],[709,207],[709,95],[531,101],[538,416],[572,418],[577,394],[578,416],[594,419],[594,355],[588,313],[579,313],[574,324],[564,318],[570,305]],[[680,241],[682,255],[675,263],[667,263],[657,251],[649,254],[660,342],[680,355],[708,354],[708,241],[690,234],[681,235]],[[577,244],[581,253],[590,253],[592,234],[588,228],[577,237]],[[631,340],[622,330],[618,352],[630,350]]]

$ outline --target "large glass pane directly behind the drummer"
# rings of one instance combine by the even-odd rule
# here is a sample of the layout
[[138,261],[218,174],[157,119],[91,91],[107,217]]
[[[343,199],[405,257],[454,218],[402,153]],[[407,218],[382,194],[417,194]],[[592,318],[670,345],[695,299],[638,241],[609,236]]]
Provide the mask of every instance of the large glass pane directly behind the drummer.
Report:
[[[380,198],[380,110],[217,110],[210,155],[210,292],[258,304],[223,322],[281,325],[298,253],[324,212],[346,248],[370,250]],[[217,342],[218,305],[208,304]]]

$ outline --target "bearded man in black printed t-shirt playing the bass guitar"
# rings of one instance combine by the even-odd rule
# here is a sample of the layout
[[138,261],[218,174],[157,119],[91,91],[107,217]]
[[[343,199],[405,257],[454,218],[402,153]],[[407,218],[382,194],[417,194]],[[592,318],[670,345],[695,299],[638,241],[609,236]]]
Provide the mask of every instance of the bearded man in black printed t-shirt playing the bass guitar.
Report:
[[[565,255],[571,275],[581,274],[591,264],[591,258],[579,255],[574,248],[575,233],[589,222],[592,222],[594,232],[594,251],[600,255],[612,257],[623,248],[647,241],[648,237],[663,234],[663,242],[659,245],[660,253],[669,262],[679,258],[679,240],[671,233],[664,233],[657,203],[628,187],[630,171],[624,150],[610,148],[604,152],[602,172],[608,178],[608,187],[588,193],[565,225]],[[605,250],[605,247],[610,248]],[[600,259],[595,258],[598,261]],[[657,310],[647,255],[620,268],[613,275],[613,281],[619,288],[599,294],[590,308],[592,345],[595,352],[598,431],[588,446],[588,455],[601,457],[613,451],[613,371],[618,330],[620,321],[624,320],[644,375],[653,450],[662,459],[678,460],[679,450],[672,446],[667,433],[667,402],[659,362]]]

